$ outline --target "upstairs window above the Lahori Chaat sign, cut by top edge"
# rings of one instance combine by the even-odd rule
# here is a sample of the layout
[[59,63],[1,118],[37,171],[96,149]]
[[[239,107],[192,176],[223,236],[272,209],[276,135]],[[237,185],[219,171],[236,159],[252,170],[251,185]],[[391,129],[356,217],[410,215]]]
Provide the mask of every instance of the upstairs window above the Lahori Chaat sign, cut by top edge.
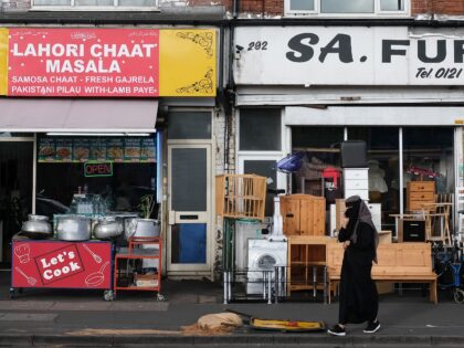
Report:
[[93,8],[156,8],[156,0],[32,0],[33,7]]

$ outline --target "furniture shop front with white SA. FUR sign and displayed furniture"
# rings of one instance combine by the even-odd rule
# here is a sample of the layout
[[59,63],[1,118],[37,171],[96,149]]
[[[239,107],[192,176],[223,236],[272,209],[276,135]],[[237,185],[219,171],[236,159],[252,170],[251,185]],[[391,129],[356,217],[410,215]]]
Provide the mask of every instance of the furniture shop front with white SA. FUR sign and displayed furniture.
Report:
[[[358,194],[388,243],[390,268],[379,266],[388,273],[376,278],[387,282],[379,292],[391,292],[391,282],[430,283],[435,300],[443,264],[436,251],[458,232],[464,31],[327,23],[234,29],[238,173],[272,178],[288,194],[280,198],[287,296],[302,289],[316,296],[318,282],[337,282],[340,259],[330,251],[342,252],[334,242],[344,199]],[[351,164],[344,152],[350,145],[359,146]],[[280,167],[292,160],[294,168]],[[249,267],[264,257],[247,252]],[[402,253],[428,278],[408,268]]]

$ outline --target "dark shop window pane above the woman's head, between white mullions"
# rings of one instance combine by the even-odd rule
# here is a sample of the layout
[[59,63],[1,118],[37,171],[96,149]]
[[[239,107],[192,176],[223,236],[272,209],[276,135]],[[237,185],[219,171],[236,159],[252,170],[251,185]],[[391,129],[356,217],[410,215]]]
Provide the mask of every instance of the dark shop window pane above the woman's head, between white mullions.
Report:
[[369,203],[381,204],[382,230],[394,231],[400,212],[398,127],[350,127],[348,139],[365,140],[369,164]]

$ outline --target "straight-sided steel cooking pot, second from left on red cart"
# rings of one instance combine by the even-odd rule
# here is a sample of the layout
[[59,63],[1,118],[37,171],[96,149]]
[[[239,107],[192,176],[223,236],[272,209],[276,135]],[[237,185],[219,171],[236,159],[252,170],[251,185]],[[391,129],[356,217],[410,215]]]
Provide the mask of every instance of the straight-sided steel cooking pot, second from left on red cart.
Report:
[[60,217],[56,219],[56,238],[62,241],[87,241],[91,239],[92,220],[85,217]]

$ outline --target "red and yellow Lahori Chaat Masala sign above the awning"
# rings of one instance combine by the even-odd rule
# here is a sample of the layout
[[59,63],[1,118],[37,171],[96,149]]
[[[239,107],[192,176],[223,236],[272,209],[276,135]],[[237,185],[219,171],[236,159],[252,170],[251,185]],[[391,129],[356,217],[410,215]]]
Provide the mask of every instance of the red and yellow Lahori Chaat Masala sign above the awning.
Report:
[[0,95],[214,96],[214,30],[0,29]]

